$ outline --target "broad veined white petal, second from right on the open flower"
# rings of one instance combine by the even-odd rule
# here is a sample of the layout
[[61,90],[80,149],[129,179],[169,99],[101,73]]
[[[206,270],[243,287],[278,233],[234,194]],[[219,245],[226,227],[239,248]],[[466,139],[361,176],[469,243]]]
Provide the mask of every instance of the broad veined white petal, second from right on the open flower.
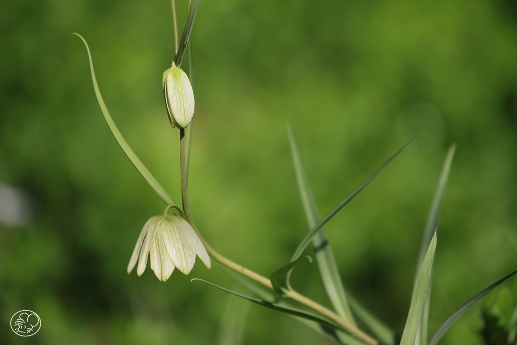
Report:
[[[169,253],[169,257],[179,271],[189,274],[195,262],[195,251],[185,241],[181,229],[178,229],[175,222],[179,217],[166,217],[168,227],[164,227],[164,242]],[[166,234],[166,235],[165,235]]]

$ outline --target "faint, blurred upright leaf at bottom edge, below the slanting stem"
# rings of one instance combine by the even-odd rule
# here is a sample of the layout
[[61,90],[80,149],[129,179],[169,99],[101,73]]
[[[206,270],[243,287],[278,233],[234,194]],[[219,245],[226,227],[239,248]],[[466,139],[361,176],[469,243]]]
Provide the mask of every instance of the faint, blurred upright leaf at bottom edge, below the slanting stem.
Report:
[[[236,285],[237,282],[234,284]],[[242,289],[242,286],[239,285]],[[237,290],[236,286],[234,290]],[[240,345],[250,304],[244,299],[229,295],[219,329],[219,345]]]

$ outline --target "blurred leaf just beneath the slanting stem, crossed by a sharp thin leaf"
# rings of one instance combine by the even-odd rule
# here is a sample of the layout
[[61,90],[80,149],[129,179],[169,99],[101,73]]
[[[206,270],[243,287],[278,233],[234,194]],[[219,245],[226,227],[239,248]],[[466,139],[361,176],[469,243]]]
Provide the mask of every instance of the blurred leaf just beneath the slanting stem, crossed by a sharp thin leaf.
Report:
[[[289,308],[306,308],[302,305],[297,305],[296,302],[294,302],[292,299],[288,299],[287,297],[283,297],[279,293],[277,293],[275,290],[268,289],[264,287],[262,284],[257,283],[254,280],[251,280],[245,276],[242,276],[234,271],[231,271],[230,269],[226,269],[226,271],[232,275],[237,281],[239,281],[241,284],[246,286],[248,289],[253,291],[256,295],[260,296],[260,298],[265,299],[266,301],[270,303],[276,303],[281,307],[289,307]],[[308,311],[310,312],[310,311]],[[355,338],[354,336],[345,333],[343,331],[340,331],[339,329],[333,329],[330,328],[322,323],[319,323],[317,321],[307,320],[303,318],[299,318],[296,316],[291,315],[292,318],[296,319],[297,321],[305,324],[306,326],[312,328],[317,333],[320,333],[324,337],[327,337],[333,341],[336,341],[340,344],[344,345],[366,345],[365,342]]]

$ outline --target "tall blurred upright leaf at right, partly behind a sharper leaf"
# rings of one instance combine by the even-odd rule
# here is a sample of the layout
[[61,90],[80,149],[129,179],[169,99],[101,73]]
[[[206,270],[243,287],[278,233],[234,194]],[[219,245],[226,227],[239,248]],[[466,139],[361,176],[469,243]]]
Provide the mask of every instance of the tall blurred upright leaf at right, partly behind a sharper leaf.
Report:
[[[445,157],[444,167],[442,168],[442,174],[440,175],[438,186],[436,187],[436,192],[434,194],[433,203],[431,204],[431,209],[429,210],[429,216],[427,218],[427,222],[425,223],[422,243],[420,245],[420,252],[418,255],[417,269],[415,272],[415,280],[413,282],[413,290],[415,290],[417,284],[418,274],[420,272],[420,269],[422,268],[422,262],[425,257],[425,252],[429,247],[429,243],[431,242],[431,238],[433,237],[434,230],[438,226],[440,212],[442,211],[442,202],[444,200],[445,189],[447,187],[447,181],[449,179],[452,158],[454,157],[455,151],[456,144],[452,144],[449,147],[449,151],[447,152],[447,155]],[[431,281],[432,278],[433,277],[431,275]],[[429,286],[430,290],[427,294],[427,299],[425,300],[425,304],[423,307],[422,318],[420,319],[420,326],[418,328],[415,345],[427,345],[428,341],[429,309],[431,304],[431,283],[429,284]]]

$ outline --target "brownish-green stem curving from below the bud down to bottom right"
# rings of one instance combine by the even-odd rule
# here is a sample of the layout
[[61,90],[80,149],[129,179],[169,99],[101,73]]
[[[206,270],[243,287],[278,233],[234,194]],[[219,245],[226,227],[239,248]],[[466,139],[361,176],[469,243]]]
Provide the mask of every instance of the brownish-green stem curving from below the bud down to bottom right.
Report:
[[[251,269],[248,269],[244,266],[239,265],[238,263],[235,263],[229,259],[226,259],[221,254],[219,254],[214,248],[210,247],[210,245],[205,241],[199,230],[197,230],[197,227],[195,226],[195,223],[192,219],[192,215],[190,213],[190,207],[189,207],[189,197],[188,197],[188,177],[187,177],[187,163],[186,163],[186,146],[187,146],[187,137],[185,135],[185,129],[181,128],[179,130],[179,162],[180,162],[180,171],[181,171],[181,200],[183,201],[183,212],[185,214],[185,220],[189,222],[189,224],[192,226],[194,231],[197,233],[197,236],[201,239],[201,242],[206,248],[206,251],[214,260],[222,264],[223,266],[226,266],[233,271],[240,273],[243,276],[246,276],[250,279],[255,280],[258,283],[261,283],[262,285],[268,287],[269,289],[273,290],[273,286],[271,284],[271,280],[268,278],[261,276],[258,273],[255,273],[251,271]],[[321,304],[318,304],[317,302],[312,301],[312,299],[307,298],[306,296],[303,296],[299,294],[298,292],[294,290],[285,290],[285,295],[291,299],[294,299],[295,301],[321,313],[323,316],[327,317],[328,319],[335,322],[337,325],[342,327],[345,331],[349,332],[353,336],[355,336],[357,339],[360,339],[367,344],[370,345],[377,345],[377,341],[367,335],[366,333],[362,332],[359,328],[352,325],[351,323],[346,322],[345,320],[341,319],[338,314],[334,313],[332,310],[329,310],[328,308],[325,308]]]

